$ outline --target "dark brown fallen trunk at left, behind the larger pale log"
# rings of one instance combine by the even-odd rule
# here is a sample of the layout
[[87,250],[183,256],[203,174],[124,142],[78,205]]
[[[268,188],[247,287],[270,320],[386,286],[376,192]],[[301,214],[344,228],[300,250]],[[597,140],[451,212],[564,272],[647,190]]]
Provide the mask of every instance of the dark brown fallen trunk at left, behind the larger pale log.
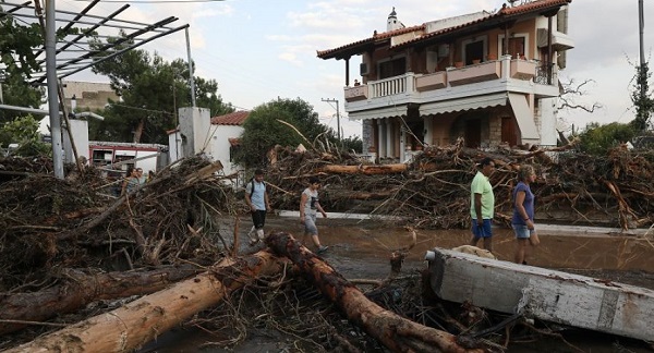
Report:
[[170,266],[152,271],[86,275],[80,270],[61,271],[63,284],[38,292],[0,297],[0,334],[24,328],[20,321],[43,321],[74,312],[98,300],[144,295],[199,272],[197,266]]

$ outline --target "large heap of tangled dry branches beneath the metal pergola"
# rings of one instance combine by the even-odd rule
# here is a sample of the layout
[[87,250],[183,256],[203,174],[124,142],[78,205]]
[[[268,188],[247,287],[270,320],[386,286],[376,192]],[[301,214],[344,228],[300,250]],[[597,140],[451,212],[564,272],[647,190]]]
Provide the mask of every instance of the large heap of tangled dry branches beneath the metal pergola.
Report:
[[[186,159],[159,172],[128,197],[102,192],[99,171],[56,179],[51,162],[0,161],[0,290],[37,290],[57,281],[61,268],[124,270],[134,267],[214,263],[225,248],[213,219],[235,212],[234,193],[211,165]],[[194,232],[204,227],[203,232]]]

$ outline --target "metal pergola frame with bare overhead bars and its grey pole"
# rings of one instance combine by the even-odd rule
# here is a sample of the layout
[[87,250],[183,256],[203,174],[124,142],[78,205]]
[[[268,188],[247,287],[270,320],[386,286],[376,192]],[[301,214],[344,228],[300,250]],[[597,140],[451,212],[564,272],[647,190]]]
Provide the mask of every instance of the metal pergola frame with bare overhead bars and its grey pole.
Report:
[[[11,16],[14,21],[25,25],[39,23],[43,28],[45,39],[44,47],[36,48],[34,52],[40,70],[33,74],[32,84],[43,85],[44,82],[47,83],[55,176],[63,179],[63,157],[61,154],[62,137],[59,109],[62,110],[64,120],[68,119],[68,117],[65,107],[63,106],[63,90],[61,89],[60,81],[63,77],[89,69],[99,62],[109,60],[129,50],[138,48],[152,40],[181,29],[186,31],[189,69],[193,72],[189,45],[189,25],[185,24],[179,27],[168,26],[179,20],[174,16],[164,19],[153,24],[118,19],[121,13],[130,8],[129,4],[121,7],[108,15],[94,15],[90,14],[90,12],[100,0],[92,0],[80,13],[57,10],[55,4],[56,0],[44,0],[44,11],[40,1],[41,0],[33,0],[19,3],[0,0],[0,19]],[[68,35],[64,38],[57,39],[56,32],[57,24],[59,23],[62,24],[62,29],[69,29],[75,26],[81,28],[81,33],[78,35]],[[110,31],[116,29],[123,31],[125,36],[118,37],[117,35],[113,35],[113,37],[117,37],[117,40],[102,45],[98,50],[92,50],[88,41],[85,40],[92,34],[107,38],[109,37]],[[131,40],[134,42],[129,47],[121,48],[120,50],[117,49],[118,46]],[[114,51],[108,56],[96,57],[98,52],[111,51],[112,49]],[[20,63],[17,64],[20,65]],[[0,68],[0,73],[2,71],[3,68]],[[191,89],[194,90],[193,74],[190,75],[190,86]],[[195,106],[195,101],[193,101],[193,106]],[[2,108],[7,109],[5,107]]]

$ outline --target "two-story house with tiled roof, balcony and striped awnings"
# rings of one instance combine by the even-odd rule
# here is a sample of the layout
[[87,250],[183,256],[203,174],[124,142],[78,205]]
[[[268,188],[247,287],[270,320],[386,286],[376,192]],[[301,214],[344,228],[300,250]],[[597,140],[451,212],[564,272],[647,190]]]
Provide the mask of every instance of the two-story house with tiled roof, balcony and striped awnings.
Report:
[[[570,2],[523,0],[411,27],[393,9],[386,32],[317,56],[344,60],[346,111],[380,158],[459,137],[469,147],[556,145]],[[362,82],[350,86],[355,56]]]

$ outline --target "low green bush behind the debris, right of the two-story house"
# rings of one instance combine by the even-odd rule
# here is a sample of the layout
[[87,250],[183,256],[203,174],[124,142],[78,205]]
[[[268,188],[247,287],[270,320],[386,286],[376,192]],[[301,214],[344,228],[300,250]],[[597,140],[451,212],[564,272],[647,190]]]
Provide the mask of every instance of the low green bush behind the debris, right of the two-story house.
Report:
[[606,153],[621,143],[629,142],[635,135],[635,130],[631,123],[621,124],[613,122],[606,125],[600,123],[590,123],[579,135],[580,148],[591,155],[606,155]]

